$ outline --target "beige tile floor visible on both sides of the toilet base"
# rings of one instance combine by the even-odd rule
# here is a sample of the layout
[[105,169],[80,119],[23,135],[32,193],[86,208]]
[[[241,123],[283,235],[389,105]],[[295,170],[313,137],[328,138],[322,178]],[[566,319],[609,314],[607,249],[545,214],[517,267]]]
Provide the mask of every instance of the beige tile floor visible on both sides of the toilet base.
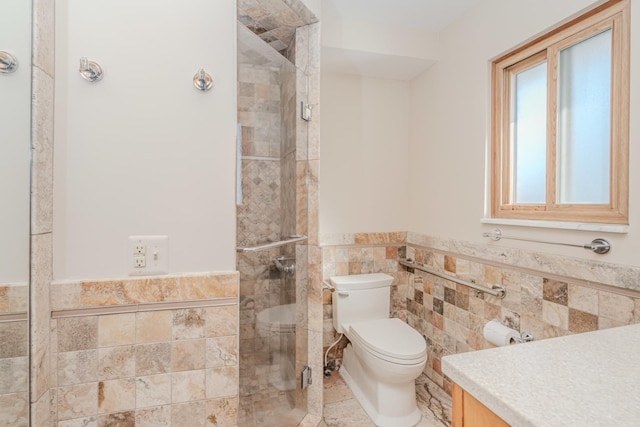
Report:
[[[422,419],[417,427],[450,427],[451,397],[422,375],[416,380],[418,408]],[[319,427],[373,427],[338,372],[324,380],[324,423]]]

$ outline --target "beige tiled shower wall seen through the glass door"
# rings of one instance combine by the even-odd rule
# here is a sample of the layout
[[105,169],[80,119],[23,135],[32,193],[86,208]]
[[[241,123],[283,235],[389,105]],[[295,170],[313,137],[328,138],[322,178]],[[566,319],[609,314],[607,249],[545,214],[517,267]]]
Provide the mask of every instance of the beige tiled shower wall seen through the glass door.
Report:
[[[317,67],[309,65],[318,59],[317,55],[311,57],[310,54],[313,43],[319,41],[318,30],[317,25],[296,30],[288,50],[288,59],[295,66],[280,55],[277,60],[267,60],[269,54],[262,51],[264,46],[242,40],[243,46],[250,47],[241,52],[238,73],[238,116],[243,136],[243,201],[238,206],[238,241],[242,245],[278,241],[294,234],[308,235],[309,242],[314,238],[317,242],[317,221],[310,222],[317,218],[317,179],[314,179],[317,175],[311,175],[317,167],[310,166],[308,155],[312,127],[300,119],[297,107],[301,101],[312,102],[313,99],[307,91],[310,82],[318,80]],[[317,91],[315,93],[317,99]],[[317,101],[315,104],[317,106]],[[317,131],[317,127],[313,129]],[[317,140],[316,137],[316,144]],[[309,273],[316,270],[308,268],[310,250],[313,250],[312,246],[302,243],[238,254],[241,275],[240,419],[246,425],[274,421],[291,424],[293,421],[288,421],[287,417],[295,419],[296,414],[302,411],[304,415],[309,408],[311,390],[316,396],[313,399],[316,413],[321,413],[321,399],[318,403],[317,398],[321,395],[321,383],[317,382],[305,391],[300,389],[300,372],[312,363],[308,358],[309,337],[313,334],[307,323],[312,298],[308,286],[311,283]],[[295,275],[275,270],[273,260],[278,256],[285,257],[283,264],[295,265]],[[295,303],[295,335],[265,336],[256,321],[257,316],[271,307],[291,303]],[[314,304],[320,312],[319,298],[314,299]],[[319,325],[320,317],[314,319]],[[320,329],[319,326],[315,328]],[[280,348],[275,348],[278,341]],[[274,377],[283,374],[273,365],[274,354],[278,352],[285,357],[295,355],[295,360],[289,361],[294,369],[286,375],[293,374],[290,380],[294,389],[286,393],[273,387]],[[315,375],[321,375],[321,367],[316,369]]]

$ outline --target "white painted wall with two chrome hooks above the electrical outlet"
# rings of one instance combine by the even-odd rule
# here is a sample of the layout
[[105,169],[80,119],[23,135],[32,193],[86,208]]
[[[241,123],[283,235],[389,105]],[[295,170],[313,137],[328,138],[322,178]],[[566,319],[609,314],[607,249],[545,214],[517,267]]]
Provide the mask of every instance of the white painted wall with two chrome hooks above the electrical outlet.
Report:
[[[56,3],[55,279],[125,276],[127,237],[170,272],[235,270],[235,2]],[[80,57],[104,68],[89,84]],[[207,93],[192,77],[204,67]]]

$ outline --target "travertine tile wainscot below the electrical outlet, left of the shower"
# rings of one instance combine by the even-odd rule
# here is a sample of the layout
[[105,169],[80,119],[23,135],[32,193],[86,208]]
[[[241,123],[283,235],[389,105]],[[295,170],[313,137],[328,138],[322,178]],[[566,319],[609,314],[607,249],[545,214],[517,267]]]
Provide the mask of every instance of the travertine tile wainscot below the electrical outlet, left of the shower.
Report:
[[237,425],[237,295],[236,273],[53,285],[51,421]]

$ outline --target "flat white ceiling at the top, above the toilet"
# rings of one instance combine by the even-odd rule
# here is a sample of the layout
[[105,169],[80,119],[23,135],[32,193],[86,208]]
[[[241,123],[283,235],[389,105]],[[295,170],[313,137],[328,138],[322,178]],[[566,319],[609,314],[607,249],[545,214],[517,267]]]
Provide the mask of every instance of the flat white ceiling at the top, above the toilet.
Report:
[[437,32],[480,0],[322,0],[323,16]]

